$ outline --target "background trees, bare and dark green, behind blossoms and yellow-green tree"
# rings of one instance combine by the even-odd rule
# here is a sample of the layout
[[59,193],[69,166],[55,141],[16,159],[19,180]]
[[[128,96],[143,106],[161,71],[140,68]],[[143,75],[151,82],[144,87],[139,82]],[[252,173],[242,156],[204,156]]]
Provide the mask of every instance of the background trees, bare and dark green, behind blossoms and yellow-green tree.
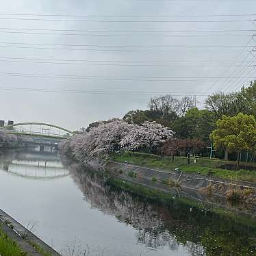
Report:
[[178,100],[170,94],[149,100],[148,110],[131,110],[123,120],[138,125],[155,121],[175,132],[176,138],[199,139],[209,144],[209,135],[216,129],[216,121],[222,116],[239,113],[256,116],[256,82],[240,92],[214,93],[205,99],[205,107],[199,110],[194,97]]

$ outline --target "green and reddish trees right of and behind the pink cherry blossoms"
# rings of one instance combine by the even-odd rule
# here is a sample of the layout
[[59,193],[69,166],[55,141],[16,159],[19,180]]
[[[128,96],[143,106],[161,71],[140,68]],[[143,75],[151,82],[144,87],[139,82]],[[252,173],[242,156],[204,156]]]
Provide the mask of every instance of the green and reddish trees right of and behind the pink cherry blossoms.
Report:
[[[183,151],[202,152],[214,142],[218,157],[229,159],[237,156],[239,164],[242,151],[256,153],[256,81],[240,92],[211,94],[205,99],[205,107],[199,110],[196,99],[175,99],[170,94],[153,97],[148,110],[131,110],[124,116],[128,123],[141,124],[145,120],[156,121],[170,127],[175,139],[167,142],[162,153],[175,155]],[[234,157],[234,156],[233,156]]]

